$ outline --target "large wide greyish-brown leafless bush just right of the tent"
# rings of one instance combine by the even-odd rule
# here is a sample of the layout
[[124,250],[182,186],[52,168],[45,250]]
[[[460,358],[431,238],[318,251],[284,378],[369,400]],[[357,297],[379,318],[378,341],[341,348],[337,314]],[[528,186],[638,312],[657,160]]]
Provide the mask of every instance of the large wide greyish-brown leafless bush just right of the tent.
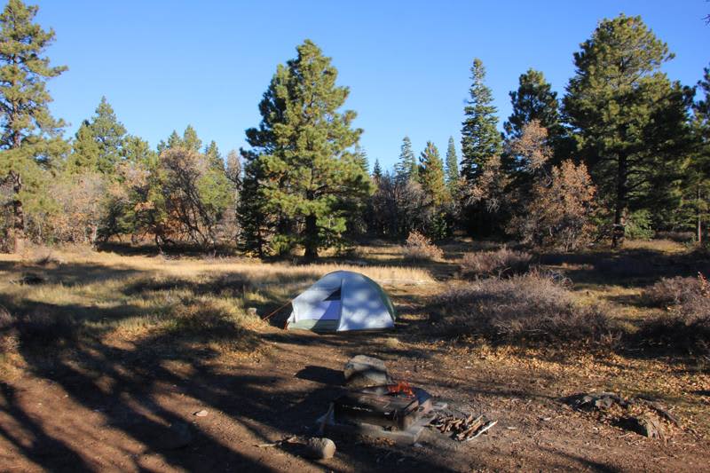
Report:
[[437,297],[435,308],[446,333],[497,343],[603,342],[613,332],[597,306],[577,304],[570,291],[539,272],[451,288]]

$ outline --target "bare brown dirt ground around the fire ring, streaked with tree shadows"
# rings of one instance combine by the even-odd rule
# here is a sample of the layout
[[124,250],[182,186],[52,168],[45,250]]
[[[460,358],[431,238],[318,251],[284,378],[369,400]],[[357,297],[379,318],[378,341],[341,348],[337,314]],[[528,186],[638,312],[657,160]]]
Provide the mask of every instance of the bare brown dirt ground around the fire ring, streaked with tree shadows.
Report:
[[[0,382],[0,470],[710,471],[706,365],[447,343],[425,335],[431,289],[386,289],[401,314],[392,332],[315,335],[275,321],[256,327],[253,351],[229,356],[194,344],[169,350],[171,340],[150,337],[97,337],[61,358],[35,355]],[[327,461],[291,444],[257,446],[312,435],[356,354],[385,359],[396,379],[498,423],[468,443],[435,430],[410,446],[334,438]],[[682,428],[664,424],[665,442],[644,438],[559,400],[595,390],[657,398]]]

